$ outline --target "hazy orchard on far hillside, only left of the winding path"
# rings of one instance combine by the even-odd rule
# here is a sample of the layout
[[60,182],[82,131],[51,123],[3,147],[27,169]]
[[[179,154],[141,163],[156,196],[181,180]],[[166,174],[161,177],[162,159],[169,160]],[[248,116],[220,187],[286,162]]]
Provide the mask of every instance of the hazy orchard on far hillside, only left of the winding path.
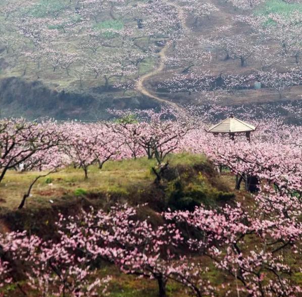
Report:
[[133,81],[155,56],[153,40],[181,31],[176,8],[164,1],[4,1],[0,13],[0,48],[23,75],[61,72],[81,85],[102,79],[105,89]]

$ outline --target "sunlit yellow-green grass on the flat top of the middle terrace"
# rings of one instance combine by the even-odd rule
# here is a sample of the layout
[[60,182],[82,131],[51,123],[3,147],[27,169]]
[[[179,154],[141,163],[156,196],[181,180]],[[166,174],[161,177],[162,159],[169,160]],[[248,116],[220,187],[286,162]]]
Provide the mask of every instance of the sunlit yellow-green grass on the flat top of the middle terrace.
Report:
[[[172,166],[193,165],[205,161],[205,157],[180,153],[169,155],[167,160]],[[47,179],[39,180],[33,187],[32,196],[28,198],[26,207],[51,206],[49,200],[98,193],[124,197],[133,192],[133,187],[144,189],[153,183],[155,176],[151,168],[155,164],[154,159],[148,160],[146,157],[108,161],[102,170],[97,166],[90,166],[87,180],[84,179],[82,169],[68,167],[51,174]],[[0,208],[16,209],[28,186],[39,174],[40,172],[10,170],[0,184]]]

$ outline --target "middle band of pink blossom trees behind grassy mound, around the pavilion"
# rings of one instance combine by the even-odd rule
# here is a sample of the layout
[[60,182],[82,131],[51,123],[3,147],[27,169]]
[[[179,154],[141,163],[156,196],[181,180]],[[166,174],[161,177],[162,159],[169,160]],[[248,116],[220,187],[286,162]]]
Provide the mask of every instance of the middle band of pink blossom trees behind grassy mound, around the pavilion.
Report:
[[0,183],[10,169],[38,170],[44,176],[73,166],[88,178],[93,164],[102,169],[110,159],[142,156],[157,160],[153,171],[160,183],[169,153],[187,151],[205,154],[218,168],[229,168],[237,174],[237,188],[254,176],[280,191],[301,191],[301,126],[262,120],[256,124],[251,143],[245,135],[233,142],[228,135],[207,133],[202,121],[205,113],[200,116],[195,111],[114,110],[114,121],[96,123],[2,120]]

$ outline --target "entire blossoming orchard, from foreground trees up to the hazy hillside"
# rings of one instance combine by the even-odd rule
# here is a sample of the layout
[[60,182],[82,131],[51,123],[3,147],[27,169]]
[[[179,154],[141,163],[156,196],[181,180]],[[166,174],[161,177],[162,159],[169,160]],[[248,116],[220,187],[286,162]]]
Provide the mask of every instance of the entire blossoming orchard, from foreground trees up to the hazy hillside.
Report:
[[[205,22],[220,18],[227,4],[1,1],[5,71],[34,80],[59,77],[62,89],[66,84],[125,91],[143,88],[140,78],[159,64],[162,90],[196,92],[207,102],[159,112],[108,110],[108,122],[0,120],[0,183],[9,170],[38,172],[19,209],[41,177],[72,166],[89,179],[90,166],[102,169],[109,160],[155,159],[155,187],[163,189],[169,154],[179,152],[203,154],[218,172],[236,176],[237,191],[244,183],[252,200],[216,208],[201,204],[192,211],[165,209],[155,214],[157,224],[141,218],[146,205],[111,205],[60,214],[52,240],[26,231],[0,234],[1,297],[10,284],[23,295],[27,290],[43,297],[106,295],[111,277],[99,276],[104,262],[154,279],[160,297],[166,296],[169,281],[196,297],[302,294],[293,277],[302,273],[302,126],[291,124],[300,124],[301,103],[268,104],[267,109],[218,104],[226,93],[256,83],[279,99],[301,85],[301,10],[265,14],[257,10],[262,0],[226,2],[236,16],[207,27]],[[220,66],[226,64],[234,71],[223,73]],[[211,123],[230,113],[257,126],[250,142],[245,135],[231,140],[207,133]],[[226,281],[209,275],[224,275]]]

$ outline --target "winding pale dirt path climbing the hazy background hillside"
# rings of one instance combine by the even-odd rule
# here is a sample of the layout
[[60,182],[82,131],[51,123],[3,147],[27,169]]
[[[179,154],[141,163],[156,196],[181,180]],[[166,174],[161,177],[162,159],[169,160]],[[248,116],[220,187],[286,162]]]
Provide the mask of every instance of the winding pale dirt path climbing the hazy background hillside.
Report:
[[[178,18],[180,19],[182,28],[185,31],[190,31],[190,28],[187,27],[187,25],[185,23],[185,17],[184,17],[184,11],[183,11],[183,9],[179,5],[177,5],[175,3],[171,3],[171,2],[168,2],[168,1],[166,1],[166,3],[174,6],[177,9]],[[135,84],[135,89],[138,90],[141,94],[143,94],[143,95],[145,95],[145,96],[147,96],[149,98],[156,99],[157,101],[160,101],[162,103],[172,105],[176,109],[182,109],[178,104],[176,104],[174,102],[171,102],[171,101],[169,101],[167,99],[160,98],[158,96],[155,96],[155,95],[151,94],[145,88],[145,86],[144,86],[144,82],[149,77],[152,77],[155,74],[159,74],[160,72],[162,72],[164,70],[164,67],[165,67],[164,58],[166,57],[167,49],[169,48],[169,46],[171,45],[171,43],[172,43],[171,40],[169,40],[165,44],[165,46],[160,50],[160,52],[158,53],[159,65],[158,65],[157,69],[156,70],[152,70],[152,71],[144,74],[143,76],[139,77],[138,80],[137,80],[137,82],[136,82],[136,84]]]

